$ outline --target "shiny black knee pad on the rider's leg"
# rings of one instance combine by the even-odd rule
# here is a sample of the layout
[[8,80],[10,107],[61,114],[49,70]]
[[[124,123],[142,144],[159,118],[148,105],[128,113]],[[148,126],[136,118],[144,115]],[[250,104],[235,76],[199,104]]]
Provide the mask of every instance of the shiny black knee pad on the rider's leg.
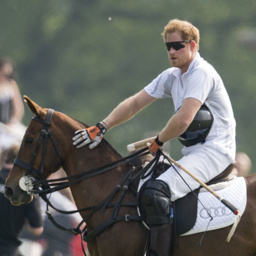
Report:
[[161,180],[146,181],[139,190],[138,207],[142,221],[150,228],[172,223],[168,184]]

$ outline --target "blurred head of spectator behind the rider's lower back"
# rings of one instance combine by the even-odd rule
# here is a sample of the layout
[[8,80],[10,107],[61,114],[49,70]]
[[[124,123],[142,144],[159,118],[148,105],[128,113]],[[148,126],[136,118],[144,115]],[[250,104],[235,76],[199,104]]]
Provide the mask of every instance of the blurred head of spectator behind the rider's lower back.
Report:
[[233,173],[235,173],[235,175],[237,175],[238,177],[247,176],[252,167],[251,159],[244,152],[238,152],[236,154],[235,160],[236,166],[233,170]]

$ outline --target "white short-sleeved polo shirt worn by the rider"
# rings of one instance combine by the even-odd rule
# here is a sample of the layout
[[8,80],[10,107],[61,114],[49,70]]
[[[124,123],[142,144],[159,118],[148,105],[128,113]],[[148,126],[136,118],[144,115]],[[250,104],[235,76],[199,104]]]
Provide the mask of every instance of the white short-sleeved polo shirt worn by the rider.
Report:
[[199,53],[186,73],[181,74],[179,68],[169,68],[144,89],[155,98],[173,98],[175,112],[185,98],[196,98],[205,104],[214,120],[203,145],[222,152],[234,162],[236,122],[230,98],[215,68]]

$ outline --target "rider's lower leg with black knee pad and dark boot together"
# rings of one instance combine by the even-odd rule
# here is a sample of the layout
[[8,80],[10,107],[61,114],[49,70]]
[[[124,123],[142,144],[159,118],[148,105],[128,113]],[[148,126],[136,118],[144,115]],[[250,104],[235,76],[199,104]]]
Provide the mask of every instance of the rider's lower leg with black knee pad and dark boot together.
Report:
[[138,207],[142,220],[150,228],[150,256],[170,256],[173,210],[168,184],[146,181],[140,188]]

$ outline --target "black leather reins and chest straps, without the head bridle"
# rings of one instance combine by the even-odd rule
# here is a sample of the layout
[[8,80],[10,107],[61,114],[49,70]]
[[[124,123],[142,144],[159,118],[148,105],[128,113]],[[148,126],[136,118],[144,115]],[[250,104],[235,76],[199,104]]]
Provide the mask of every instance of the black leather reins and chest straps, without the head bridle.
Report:
[[[132,161],[135,158],[138,158],[139,156],[145,155],[145,154],[149,154],[149,151],[147,151],[146,153],[143,153],[144,151],[147,151],[147,148],[143,148],[142,150],[137,151],[136,153],[131,154],[128,157],[125,158],[121,158],[115,162],[109,163],[105,166],[96,168],[96,169],[92,169],[90,171],[87,171],[85,173],[82,173],[84,175],[86,175],[87,173],[91,173],[91,172],[95,172],[95,170],[97,171],[94,175],[98,175],[100,173],[103,173],[105,171],[108,171],[110,169],[116,168],[117,166],[123,165],[127,162]],[[131,203],[122,203],[122,200],[124,198],[124,194],[125,192],[128,190],[128,188],[130,186],[132,186],[132,191],[137,193],[136,190],[133,187],[133,182],[136,178],[141,177],[142,179],[146,178],[147,176],[151,175],[151,173],[154,172],[154,169],[157,166],[158,160],[160,157],[160,152],[151,160],[151,162],[149,164],[147,164],[147,166],[145,168],[142,168],[136,175],[134,175],[132,177],[133,171],[134,171],[134,167],[132,167],[131,169],[128,170],[128,172],[126,173],[126,175],[124,176],[124,178],[122,179],[122,181],[120,181],[119,184],[116,185],[116,187],[114,188],[114,190],[109,194],[109,196],[107,196],[105,198],[105,200],[103,200],[100,204],[96,205],[96,206],[92,206],[92,207],[86,207],[86,208],[82,208],[76,211],[62,211],[60,209],[57,209],[56,207],[54,207],[52,205],[52,203],[49,201],[49,199],[46,197],[46,193],[40,193],[40,196],[42,197],[43,200],[45,200],[45,202],[47,203],[47,211],[46,214],[48,215],[49,220],[58,228],[62,229],[62,230],[66,230],[68,232],[71,232],[73,234],[82,234],[83,233],[83,240],[85,242],[90,242],[93,238],[95,238],[98,234],[100,234],[102,231],[107,230],[110,226],[112,226],[113,224],[115,224],[116,222],[120,222],[120,221],[139,221],[141,222],[141,217],[139,215],[136,216],[132,216],[132,215],[125,215],[125,216],[117,216],[118,215],[118,211],[120,209],[120,207],[137,207],[137,202],[131,202]],[[107,166],[107,167],[106,167]],[[151,168],[151,171],[147,173],[148,169]],[[145,175],[145,173],[147,173],[147,175]],[[76,176],[76,175],[75,175]],[[92,177],[90,175],[90,177]],[[74,176],[72,176],[74,177]],[[70,177],[68,177],[70,178]],[[80,180],[84,180],[87,177],[83,177],[75,182],[78,182]],[[67,178],[64,178],[67,179]],[[60,179],[56,179],[56,180],[52,180],[52,181],[57,181]],[[63,178],[61,178],[61,180],[63,180]],[[45,180],[44,180],[45,181]],[[49,180],[50,181],[50,180]],[[124,182],[126,181],[126,183],[124,184]],[[38,182],[38,181],[37,181]],[[72,183],[75,183],[72,182]],[[72,184],[72,183],[68,183],[68,184]],[[124,184],[124,185],[123,185]],[[64,184],[66,187],[68,185]],[[123,185],[123,187],[122,187]],[[58,188],[50,188],[52,190],[52,192],[57,191],[62,189],[63,185],[58,186]],[[122,188],[122,191],[120,192],[120,196],[117,199],[116,203],[109,203],[113,196]],[[44,190],[41,190],[40,192],[43,192]],[[45,189],[45,192],[49,192],[49,189]],[[75,229],[67,229],[63,226],[60,226],[58,223],[56,223],[52,217],[52,215],[49,212],[48,207],[52,207],[53,209],[55,209],[56,211],[59,211],[60,213],[63,214],[73,214],[76,212],[81,212],[81,211],[90,211],[90,213],[83,218],[82,222],[79,223],[79,225],[75,228]],[[109,207],[113,207],[113,212],[112,215],[110,217],[110,219],[108,221],[105,221],[103,223],[101,223],[97,228],[94,228],[94,230],[90,231],[90,233],[87,233],[87,226],[85,226],[85,228],[83,230],[80,230],[80,227],[83,225],[83,223],[85,223],[87,221],[87,219],[89,219],[92,215],[94,215],[94,213],[96,213],[97,211],[100,210],[100,213],[102,213],[105,208],[109,208]]]

